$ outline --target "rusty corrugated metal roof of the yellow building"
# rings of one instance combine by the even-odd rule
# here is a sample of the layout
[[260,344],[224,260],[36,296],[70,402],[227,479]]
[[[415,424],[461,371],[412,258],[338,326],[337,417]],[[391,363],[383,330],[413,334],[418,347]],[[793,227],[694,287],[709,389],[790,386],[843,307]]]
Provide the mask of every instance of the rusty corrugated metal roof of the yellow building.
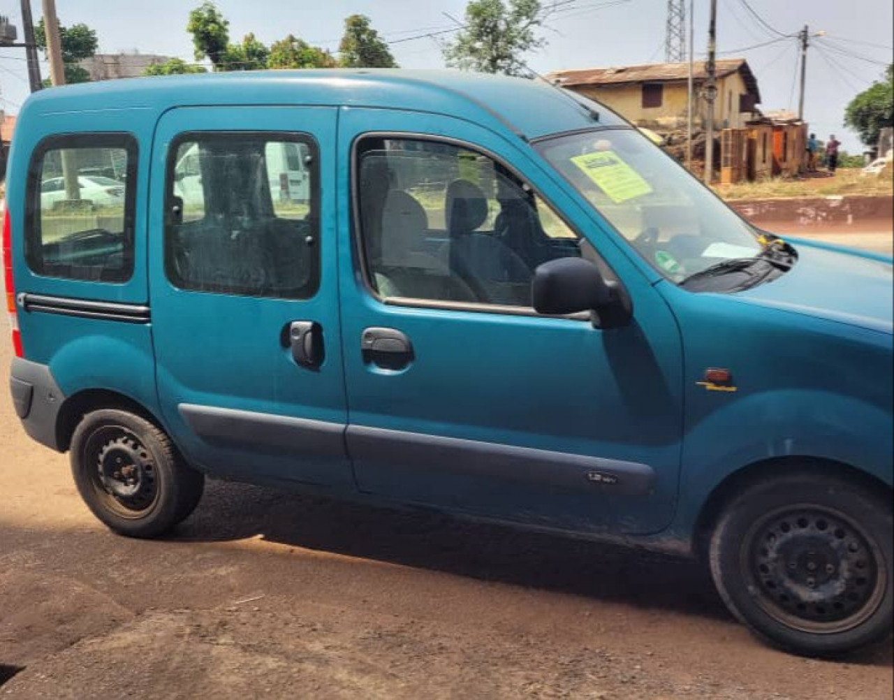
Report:
[[[715,63],[718,78],[741,72],[747,89],[756,101],[761,101],[757,79],[744,58],[724,58]],[[699,82],[707,79],[705,62],[693,63],[693,76]],[[579,71],[556,71],[547,76],[563,88],[584,88],[586,86],[624,85],[639,82],[677,82],[688,80],[688,63],[647,63],[645,65],[624,65],[611,68],[586,68]]]

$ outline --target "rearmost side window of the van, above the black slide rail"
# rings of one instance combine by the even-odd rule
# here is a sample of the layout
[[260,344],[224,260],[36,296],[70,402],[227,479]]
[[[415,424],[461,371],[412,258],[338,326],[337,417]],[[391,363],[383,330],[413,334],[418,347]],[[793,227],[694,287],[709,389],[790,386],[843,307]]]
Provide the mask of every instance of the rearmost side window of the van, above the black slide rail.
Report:
[[25,257],[35,273],[122,283],[133,274],[137,142],[71,134],[38,145],[30,164]]

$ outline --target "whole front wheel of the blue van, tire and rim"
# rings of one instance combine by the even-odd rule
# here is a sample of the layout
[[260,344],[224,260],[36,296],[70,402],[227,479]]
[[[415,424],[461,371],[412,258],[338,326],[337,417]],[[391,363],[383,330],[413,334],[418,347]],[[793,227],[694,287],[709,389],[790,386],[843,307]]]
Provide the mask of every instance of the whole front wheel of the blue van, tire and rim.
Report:
[[730,611],[773,645],[834,656],[888,637],[890,497],[818,469],[750,485],[710,539],[714,584]]

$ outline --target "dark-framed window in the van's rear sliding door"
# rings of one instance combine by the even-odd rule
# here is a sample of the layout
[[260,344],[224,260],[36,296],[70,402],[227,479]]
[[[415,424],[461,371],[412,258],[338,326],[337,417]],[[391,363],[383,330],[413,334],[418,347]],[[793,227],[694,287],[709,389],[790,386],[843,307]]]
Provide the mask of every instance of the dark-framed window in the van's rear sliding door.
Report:
[[308,137],[189,133],[170,154],[164,254],[173,284],[279,299],[316,293],[319,197]]

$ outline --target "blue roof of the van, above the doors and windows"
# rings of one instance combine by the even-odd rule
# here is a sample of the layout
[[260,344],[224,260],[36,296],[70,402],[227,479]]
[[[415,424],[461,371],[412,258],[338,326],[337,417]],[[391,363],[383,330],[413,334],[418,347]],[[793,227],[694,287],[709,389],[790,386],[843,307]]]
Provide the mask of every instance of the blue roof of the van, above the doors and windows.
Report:
[[[595,120],[581,106],[598,114]],[[190,105],[329,105],[390,107],[451,114],[527,139],[626,123],[603,105],[544,80],[459,71],[341,70],[223,72],[82,83],[40,90],[23,112]]]

